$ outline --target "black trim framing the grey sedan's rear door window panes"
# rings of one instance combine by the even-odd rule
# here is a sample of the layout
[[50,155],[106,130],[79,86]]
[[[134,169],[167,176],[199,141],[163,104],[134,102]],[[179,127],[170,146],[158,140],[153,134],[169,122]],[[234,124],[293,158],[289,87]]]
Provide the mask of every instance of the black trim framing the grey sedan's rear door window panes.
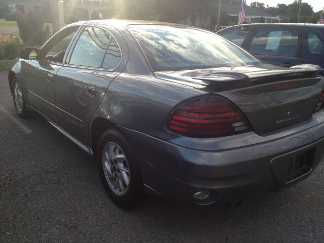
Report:
[[[119,48],[119,50],[120,50],[120,54],[121,54],[120,61],[119,61],[118,65],[117,65],[115,68],[110,68],[110,69],[109,69],[109,68],[103,68],[103,67],[102,67],[102,66],[103,66],[103,62],[104,62],[105,57],[106,57],[107,49],[108,49],[109,44],[110,44],[110,41],[109,41],[109,43],[108,43],[108,45],[107,45],[107,47],[106,47],[105,55],[103,56],[103,59],[102,59],[102,61],[101,61],[101,65],[100,65],[100,67],[89,67],[89,66],[82,66],[82,65],[69,64],[70,59],[71,59],[71,55],[72,55],[72,53],[73,53],[73,51],[74,51],[74,48],[75,48],[75,46],[76,46],[76,43],[77,43],[78,39],[80,38],[80,35],[83,33],[83,31],[84,31],[85,28],[87,28],[87,27],[94,27],[94,28],[100,28],[100,29],[103,29],[103,30],[107,31],[107,32],[108,32],[108,33],[109,33],[109,34],[110,34],[110,35],[115,39],[115,42],[117,43],[117,46],[118,46],[118,48]],[[116,70],[118,69],[118,67],[120,66],[120,63],[121,63],[121,61],[123,60],[123,56],[124,56],[124,55],[123,55],[123,51],[121,50],[120,45],[119,45],[118,42],[117,42],[117,39],[114,37],[114,35],[113,35],[109,30],[107,30],[107,29],[104,28],[104,27],[97,26],[97,25],[93,25],[93,24],[84,24],[83,27],[82,27],[81,29],[79,29],[79,32],[78,32],[77,36],[74,38],[73,45],[72,45],[71,48],[69,49],[69,53],[68,53],[68,55],[67,55],[67,58],[66,58],[65,62],[63,63],[63,66],[64,66],[64,67],[81,68],[81,69],[89,69],[89,70],[99,70],[99,71],[109,71],[109,72],[114,72],[114,71],[116,71]]]

